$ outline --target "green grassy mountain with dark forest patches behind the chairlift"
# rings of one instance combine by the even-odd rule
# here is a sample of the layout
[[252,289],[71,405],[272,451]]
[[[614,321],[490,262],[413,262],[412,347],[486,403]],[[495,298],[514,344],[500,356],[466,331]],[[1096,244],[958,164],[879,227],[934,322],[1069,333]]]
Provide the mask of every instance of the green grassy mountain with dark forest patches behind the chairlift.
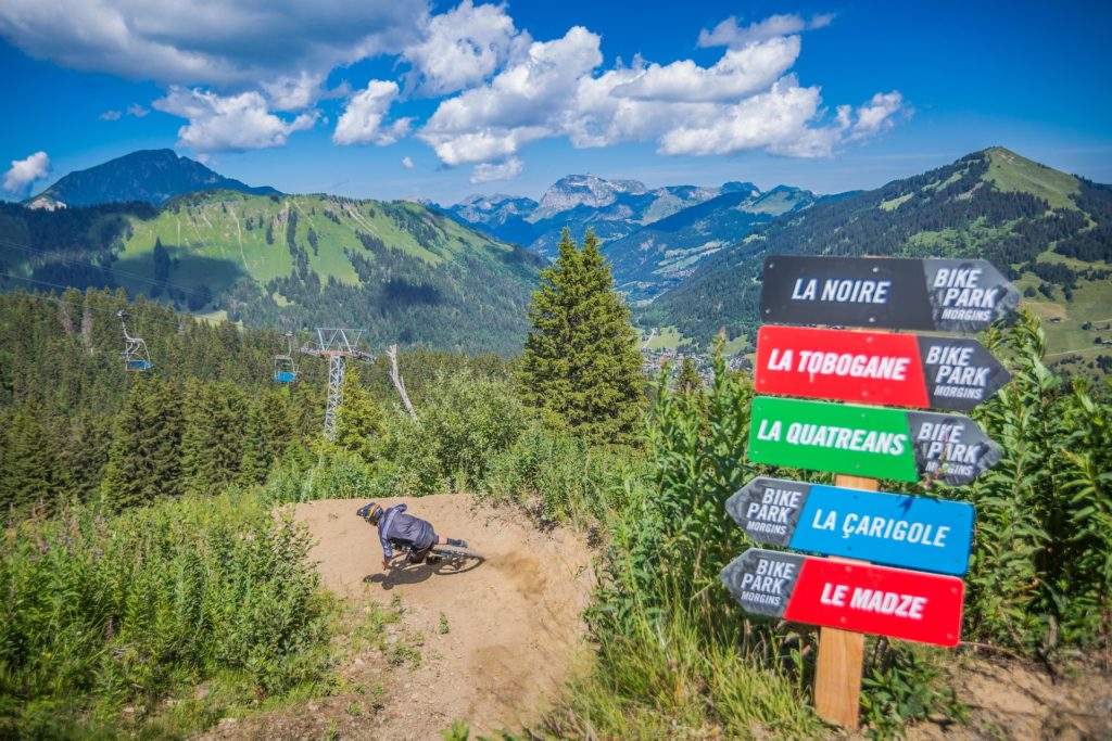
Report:
[[7,290],[121,286],[248,326],[504,353],[520,349],[544,263],[417,203],[230,191],[157,212],[7,206],[0,260]]

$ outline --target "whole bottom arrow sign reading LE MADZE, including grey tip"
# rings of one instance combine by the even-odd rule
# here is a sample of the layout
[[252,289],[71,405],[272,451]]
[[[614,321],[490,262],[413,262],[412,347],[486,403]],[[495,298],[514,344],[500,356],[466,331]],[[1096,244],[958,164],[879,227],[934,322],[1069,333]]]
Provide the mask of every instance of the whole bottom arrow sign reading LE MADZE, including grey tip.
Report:
[[965,584],[956,577],[759,548],[721,577],[756,614],[951,648],[961,637]]

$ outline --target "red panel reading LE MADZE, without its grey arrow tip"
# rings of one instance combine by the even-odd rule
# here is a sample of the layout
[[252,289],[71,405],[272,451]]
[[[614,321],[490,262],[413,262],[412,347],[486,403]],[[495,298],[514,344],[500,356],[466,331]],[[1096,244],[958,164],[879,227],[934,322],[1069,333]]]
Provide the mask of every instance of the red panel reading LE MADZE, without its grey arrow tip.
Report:
[[964,594],[956,577],[807,558],[784,619],[953,648]]

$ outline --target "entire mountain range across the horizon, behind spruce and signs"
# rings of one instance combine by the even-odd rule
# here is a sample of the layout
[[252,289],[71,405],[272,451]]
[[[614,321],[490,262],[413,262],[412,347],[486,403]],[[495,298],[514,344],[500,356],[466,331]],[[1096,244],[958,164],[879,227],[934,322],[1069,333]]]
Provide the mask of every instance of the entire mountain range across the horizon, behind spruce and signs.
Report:
[[724,328],[731,350],[752,349],[767,253],[984,257],[1046,320],[1054,351],[1092,350],[1112,317],[1112,189],[1003,148],[836,196],[568,176],[539,200],[446,208],[282,196],[159,150],[71,173],[26,206],[0,204],[4,289],[120,286],[249,324],[369,324],[383,341],[468,351],[520,348],[565,228],[598,236],[649,347],[705,347]]

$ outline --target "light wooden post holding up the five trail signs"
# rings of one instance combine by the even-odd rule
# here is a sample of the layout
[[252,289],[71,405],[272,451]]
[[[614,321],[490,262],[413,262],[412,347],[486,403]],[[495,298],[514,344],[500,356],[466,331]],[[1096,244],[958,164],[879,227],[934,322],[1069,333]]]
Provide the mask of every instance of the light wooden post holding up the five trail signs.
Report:
[[[876,479],[838,474],[834,485],[877,491]],[[851,559],[841,559],[851,560]],[[818,629],[815,665],[815,712],[827,723],[856,730],[861,707],[861,671],[865,637],[837,628]]]

